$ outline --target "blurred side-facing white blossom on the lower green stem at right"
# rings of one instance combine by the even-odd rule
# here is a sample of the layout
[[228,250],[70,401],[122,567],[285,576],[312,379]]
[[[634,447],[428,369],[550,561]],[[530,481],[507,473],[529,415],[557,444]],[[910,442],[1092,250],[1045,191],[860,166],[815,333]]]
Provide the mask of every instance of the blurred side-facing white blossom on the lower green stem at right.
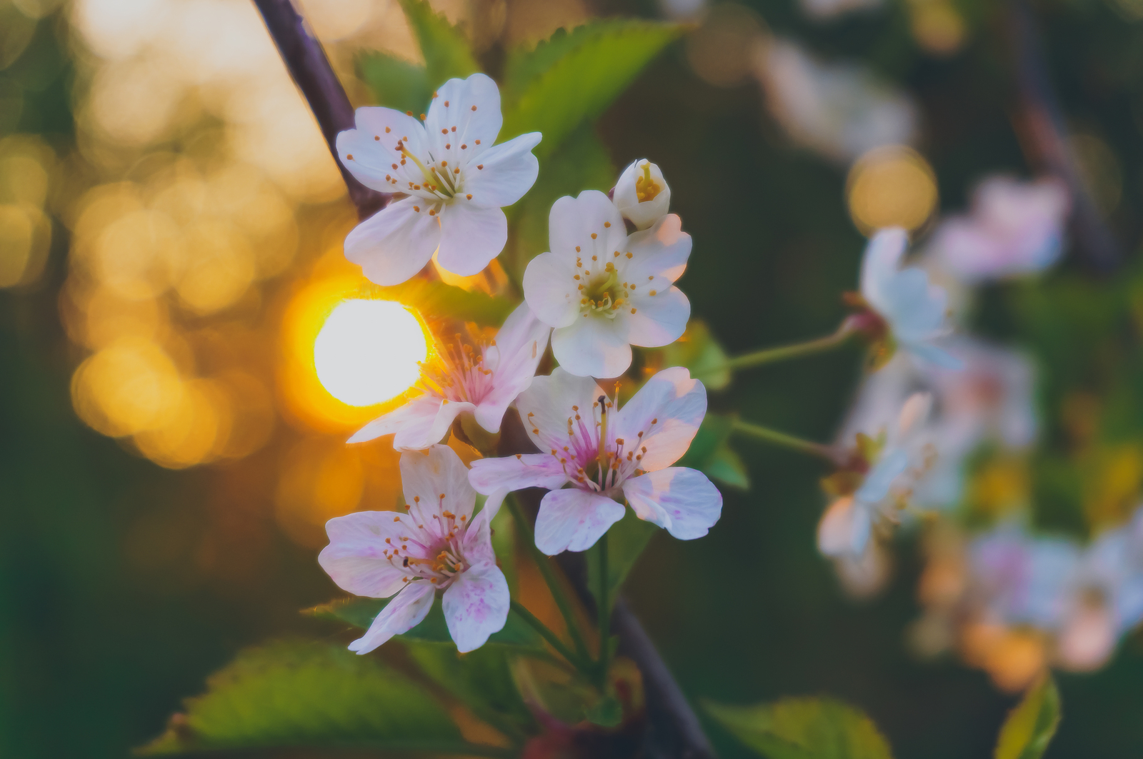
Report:
[[834,474],[838,497],[817,526],[817,548],[825,556],[860,558],[874,521],[894,522],[913,484],[928,466],[932,450],[918,437],[932,406],[925,393],[911,396],[895,424],[874,430],[880,440],[858,436],[853,466]]

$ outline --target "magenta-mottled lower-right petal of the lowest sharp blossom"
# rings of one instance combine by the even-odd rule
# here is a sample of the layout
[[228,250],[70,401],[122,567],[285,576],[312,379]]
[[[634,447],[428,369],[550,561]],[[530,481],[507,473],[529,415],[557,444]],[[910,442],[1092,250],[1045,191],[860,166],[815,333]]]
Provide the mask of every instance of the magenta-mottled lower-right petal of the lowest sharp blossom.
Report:
[[445,622],[462,654],[480,648],[488,636],[507,622],[507,581],[495,564],[478,565],[461,573],[445,590]]

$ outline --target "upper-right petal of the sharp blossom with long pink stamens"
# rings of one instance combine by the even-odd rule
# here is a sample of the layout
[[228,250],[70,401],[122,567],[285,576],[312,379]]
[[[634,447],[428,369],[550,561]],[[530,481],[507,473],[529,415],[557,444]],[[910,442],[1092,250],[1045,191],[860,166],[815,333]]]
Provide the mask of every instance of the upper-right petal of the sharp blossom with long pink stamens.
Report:
[[[615,437],[628,450],[647,448],[639,469],[670,466],[687,453],[706,416],[706,388],[685,367],[663,369],[615,416]],[[640,434],[642,433],[642,434]]]

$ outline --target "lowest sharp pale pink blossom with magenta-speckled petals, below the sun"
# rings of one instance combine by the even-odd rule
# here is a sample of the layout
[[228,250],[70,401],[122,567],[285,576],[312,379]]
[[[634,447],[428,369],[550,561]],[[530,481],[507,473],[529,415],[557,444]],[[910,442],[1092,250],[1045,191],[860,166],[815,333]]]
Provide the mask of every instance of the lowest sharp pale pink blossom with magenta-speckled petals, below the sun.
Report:
[[491,545],[499,498],[475,517],[469,470],[447,446],[401,454],[406,513],[360,511],[330,519],[318,562],[354,596],[395,598],[350,650],[368,654],[419,624],[443,590],[457,650],[479,648],[507,621],[509,590]]

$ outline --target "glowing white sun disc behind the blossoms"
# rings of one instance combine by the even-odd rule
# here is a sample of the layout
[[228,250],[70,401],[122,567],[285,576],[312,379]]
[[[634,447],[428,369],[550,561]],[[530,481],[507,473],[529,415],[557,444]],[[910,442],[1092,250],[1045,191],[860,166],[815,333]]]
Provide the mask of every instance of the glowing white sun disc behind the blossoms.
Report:
[[350,406],[373,406],[408,390],[427,353],[421,322],[391,301],[344,301],[313,344],[318,380]]

